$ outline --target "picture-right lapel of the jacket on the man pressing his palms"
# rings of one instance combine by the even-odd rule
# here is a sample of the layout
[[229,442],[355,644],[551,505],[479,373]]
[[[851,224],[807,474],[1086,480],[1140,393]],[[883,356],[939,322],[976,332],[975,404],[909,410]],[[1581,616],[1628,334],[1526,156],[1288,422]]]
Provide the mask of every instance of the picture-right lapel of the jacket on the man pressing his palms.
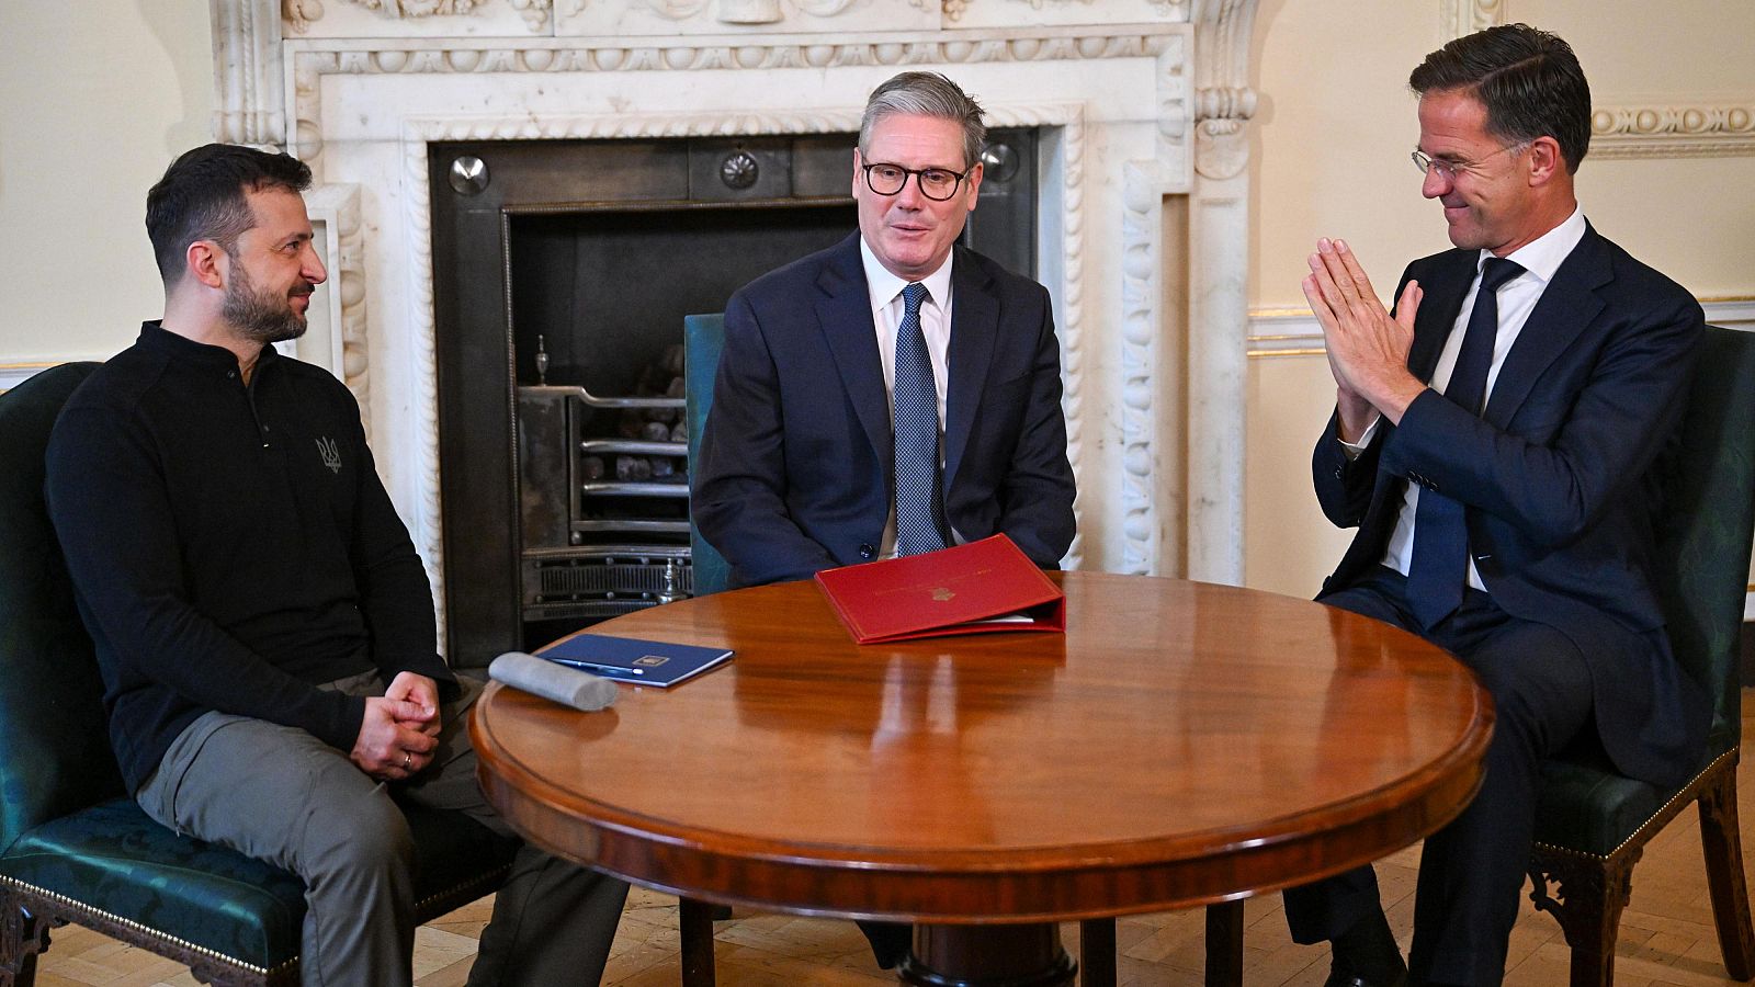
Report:
[[1585,239],[1578,241],[1553,272],[1553,281],[1543,290],[1529,321],[1523,323],[1523,332],[1506,353],[1506,362],[1494,381],[1494,393],[1486,397],[1483,414],[1486,421],[1499,429],[1511,421],[1543,371],[1571,348],[1578,334],[1585,332],[1602,311],[1602,299],[1595,290],[1611,277],[1602,237],[1585,227]]

